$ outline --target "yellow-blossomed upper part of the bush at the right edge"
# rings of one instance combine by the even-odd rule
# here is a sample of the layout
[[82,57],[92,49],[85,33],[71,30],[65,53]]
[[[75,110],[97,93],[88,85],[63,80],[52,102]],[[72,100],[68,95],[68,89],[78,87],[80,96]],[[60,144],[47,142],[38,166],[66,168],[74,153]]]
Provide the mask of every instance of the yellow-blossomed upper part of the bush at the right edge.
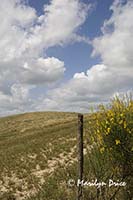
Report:
[[133,166],[133,100],[114,98],[93,113],[91,138],[101,154],[108,151],[123,174]]

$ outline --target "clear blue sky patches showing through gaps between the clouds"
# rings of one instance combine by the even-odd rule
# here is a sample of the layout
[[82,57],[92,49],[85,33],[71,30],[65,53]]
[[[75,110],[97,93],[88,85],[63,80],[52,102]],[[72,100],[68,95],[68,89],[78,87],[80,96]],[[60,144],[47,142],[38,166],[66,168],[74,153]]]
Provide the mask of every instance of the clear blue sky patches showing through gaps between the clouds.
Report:
[[[38,14],[43,13],[44,4],[50,3],[48,0],[29,0],[29,5],[34,7]],[[80,35],[88,37],[90,40],[102,34],[101,27],[105,19],[111,15],[109,10],[113,0],[84,0],[85,3],[92,4],[92,11],[88,14],[85,23],[79,28]],[[66,65],[64,81],[71,78],[76,72],[87,70],[94,64],[100,62],[100,57],[91,57],[92,46],[83,42],[68,44],[63,47],[57,46],[47,50],[48,56],[54,56],[63,60]]]

